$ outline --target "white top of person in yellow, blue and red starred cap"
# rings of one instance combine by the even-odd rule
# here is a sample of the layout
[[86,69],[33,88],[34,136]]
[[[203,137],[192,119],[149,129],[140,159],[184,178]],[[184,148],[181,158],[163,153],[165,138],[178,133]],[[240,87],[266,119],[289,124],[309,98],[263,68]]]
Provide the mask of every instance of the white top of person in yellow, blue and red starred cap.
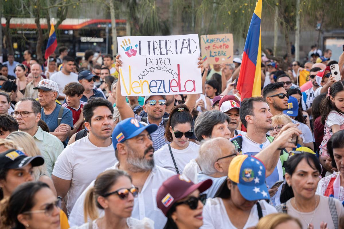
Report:
[[[277,210],[269,205],[265,200],[258,201],[263,216],[267,216],[272,213],[277,213]],[[259,221],[257,205],[251,208],[250,215],[246,221],[243,229],[255,227]],[[230,221],[225,205],[221,198],[208,198],[203,207],[203,226],[200,229],[236,229],[236,227]]]

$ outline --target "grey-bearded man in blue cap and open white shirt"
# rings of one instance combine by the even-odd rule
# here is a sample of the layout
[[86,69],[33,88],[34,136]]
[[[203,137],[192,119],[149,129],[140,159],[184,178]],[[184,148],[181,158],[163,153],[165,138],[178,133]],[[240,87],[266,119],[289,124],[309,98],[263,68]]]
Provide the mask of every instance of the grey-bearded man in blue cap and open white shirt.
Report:
[[[131,217],[148,217],[154,221],[154,228],[160,229],[164,227],[167,218],[157,208],[157,191],[162,183],[175,173],[154,165],[154,148],[150,134],[157,128],[155,124],[144,125],[135,118],[127,118],[118,123],[112,133],[112,144],[118,162],[107,170],[121,169],[129,173],[132,184],[139,190]],[[84,199],[89,188],[93,186],[94,181],[75,203],[69,215],[71,227],[84,223]],[[99,215],[104,215],[104,211],[99,210]]]

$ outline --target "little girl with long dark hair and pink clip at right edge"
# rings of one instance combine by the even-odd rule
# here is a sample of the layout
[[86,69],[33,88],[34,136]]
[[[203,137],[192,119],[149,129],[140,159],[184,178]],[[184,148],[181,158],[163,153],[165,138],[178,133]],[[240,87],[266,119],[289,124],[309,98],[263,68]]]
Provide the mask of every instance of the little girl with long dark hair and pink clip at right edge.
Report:
[[[327,97],[320,104],[321,123],[325,125],[324,138],[320,145],[320,157],[323,161],[329,157],[327,142],[331,136],[344,129],[344,82],[335,82],[327,91]],[[323,164],[324,166],[324,164]],[[324,166],[327,171],[330,168]]]

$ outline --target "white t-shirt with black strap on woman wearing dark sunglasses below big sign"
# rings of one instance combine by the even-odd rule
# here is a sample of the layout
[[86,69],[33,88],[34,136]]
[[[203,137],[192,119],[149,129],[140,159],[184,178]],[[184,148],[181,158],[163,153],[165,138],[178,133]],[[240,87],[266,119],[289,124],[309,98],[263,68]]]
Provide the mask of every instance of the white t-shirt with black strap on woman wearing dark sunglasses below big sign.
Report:
[[[200,147],[200,145],[197,145],[192,141],[189,141],[189,146],[187,146],[185,149],[179,150],[171,147],[173,157],[180,174],[183,173],[184,167],[187,163],[189,163],[192,159],[197,158]],[[154,162],[156,165],[176,173],[169,150],[169,144],[164,145],[154,153]]]

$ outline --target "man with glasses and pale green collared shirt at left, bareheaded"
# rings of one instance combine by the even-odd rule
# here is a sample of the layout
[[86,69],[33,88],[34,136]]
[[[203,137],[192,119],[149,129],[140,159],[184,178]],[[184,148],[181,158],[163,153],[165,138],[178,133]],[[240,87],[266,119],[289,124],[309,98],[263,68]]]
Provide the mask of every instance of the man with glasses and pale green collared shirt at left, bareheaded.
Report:
[[60,139],[38,126],[41,119],[40,103],[33,98],[20,99],[15,104],[13,117],[18,121],[19,129],[30,134],[35,140],[51,176],[57,157],[63,150],[63,144]]

